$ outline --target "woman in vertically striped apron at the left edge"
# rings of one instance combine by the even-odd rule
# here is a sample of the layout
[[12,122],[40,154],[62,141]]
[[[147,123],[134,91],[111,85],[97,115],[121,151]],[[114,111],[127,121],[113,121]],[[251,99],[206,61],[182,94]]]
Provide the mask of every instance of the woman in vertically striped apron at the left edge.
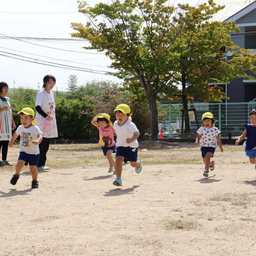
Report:
[[12,104],[10,98],[6,96],[9,91],[6,82],[0,82],[0,151],[2,148],[2,161],[0,166],[12,164],[6,160],[8,143],[12,138],[12,130],[16,128],[12,118]]

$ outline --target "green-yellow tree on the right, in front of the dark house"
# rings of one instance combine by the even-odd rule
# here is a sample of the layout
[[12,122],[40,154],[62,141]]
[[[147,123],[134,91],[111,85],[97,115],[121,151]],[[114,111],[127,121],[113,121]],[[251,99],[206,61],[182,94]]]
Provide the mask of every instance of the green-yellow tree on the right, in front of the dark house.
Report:
[[201,100],[220,102],[226,98],[217,83],[230,83],[235,78],[255,79],[256,55],[234,45],[229,33],[239,32],[235,22],[209,22],[209,18],[224,6],[213,1],[198,7],[179,4],[182,12],[174,18],[179,36],[171,47],[176,71],[174,87],[165,88],[171,99],[182,100],[185,113],[185,132],[190,131],[188,101],[195,95]]

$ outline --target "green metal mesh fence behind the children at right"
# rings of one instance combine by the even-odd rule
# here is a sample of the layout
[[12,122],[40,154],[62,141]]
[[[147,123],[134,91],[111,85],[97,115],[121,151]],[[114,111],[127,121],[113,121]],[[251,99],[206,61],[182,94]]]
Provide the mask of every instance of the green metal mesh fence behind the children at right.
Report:
[[[244,132],[244,124],[250,123],[249,112],[256,108],[256,102],[242,103],[190,103],[189,109],[196,109],[199,125],[202,114],[211,112],[216,120],[215,126],[223,137],[240,136]],[[182,104],[163,104],[158,107],[158,138],[172,138],[181,134]],[[197,126],[194,113],[189,112],[190,131],[196,133]]]

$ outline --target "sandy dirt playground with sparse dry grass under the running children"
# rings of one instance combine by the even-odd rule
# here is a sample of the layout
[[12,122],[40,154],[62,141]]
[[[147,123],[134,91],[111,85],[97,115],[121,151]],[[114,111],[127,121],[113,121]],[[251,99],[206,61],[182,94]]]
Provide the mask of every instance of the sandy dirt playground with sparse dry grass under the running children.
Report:
[[[50,145],[39,188],[24,169],[0,169],[0,256],[255,256],[256,170],[242,146],[224,145],[202,175],[200,148],[141,142],[143,169],[123,186],[96,144]],[[15,163],[18,146],[8,152]]]

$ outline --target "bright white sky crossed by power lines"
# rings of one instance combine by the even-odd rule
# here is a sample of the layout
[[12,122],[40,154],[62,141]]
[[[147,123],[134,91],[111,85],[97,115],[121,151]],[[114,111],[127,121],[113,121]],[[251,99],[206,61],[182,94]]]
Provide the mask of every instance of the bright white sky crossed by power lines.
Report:
[[[104,1],[88,1],[92,6],[99,2]],[[198,0],[186,2],[194,6]],[[108,68],[111,61],[103,52],[83,49],[89,45],[86,41],[42,42],[19,38],[72,38],[71,22],[86,23],[85,16],[78,12],[77,0],[1,0],[0,81],[7,82],[9,88],[41,89],[43,77],[52,74],[59,91],[66,91],[70,75],[77,76],[78,85],[92,80],[122,82],[115,76],[104,75],[106,71],[114,71]],[[56,64],[83,71],[53,67]]]

